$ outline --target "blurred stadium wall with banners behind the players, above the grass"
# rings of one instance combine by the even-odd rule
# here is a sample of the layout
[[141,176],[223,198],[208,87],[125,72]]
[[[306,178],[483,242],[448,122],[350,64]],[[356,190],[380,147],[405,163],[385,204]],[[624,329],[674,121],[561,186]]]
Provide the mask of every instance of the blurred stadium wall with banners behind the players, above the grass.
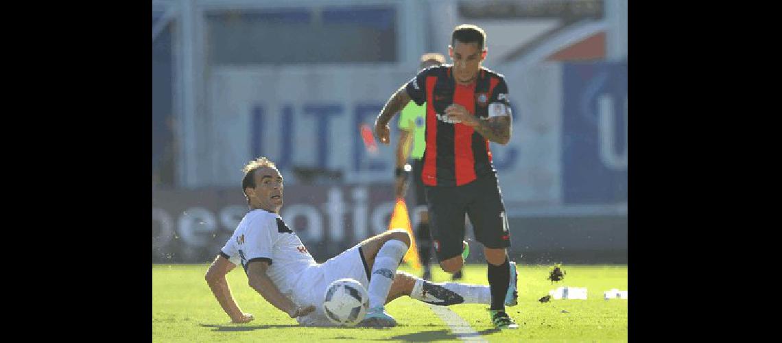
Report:
[[371,155],[359,126],[460,23],[508,81],[514,133],[491,150],[513,258],[627,263],[626,0],[153,1],[152,263],[210,262],[260,155],[319,262],[386,230],[393,145]]

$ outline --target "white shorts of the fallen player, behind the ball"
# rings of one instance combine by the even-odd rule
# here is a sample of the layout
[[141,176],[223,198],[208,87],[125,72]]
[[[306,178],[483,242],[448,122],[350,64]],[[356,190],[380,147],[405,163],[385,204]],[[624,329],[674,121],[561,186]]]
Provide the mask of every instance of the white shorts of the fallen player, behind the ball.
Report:
[[328,259],[325,263],[311,266],[300,279],[300,287],[295,292],[295,299],[292,300],[300,306],[315,305],[315,311],[307,316],[300,316],[296,320],[306,326],[335,326],[334,323],[328,321],[323,312],[323,297],[326,294],[326,288],[335,280],[349,277],[369,289],[367,276],[370,273],[371,270],[368,269],[368,265],[364,261],[364,255],[361,254],[360,245],[347,249]]

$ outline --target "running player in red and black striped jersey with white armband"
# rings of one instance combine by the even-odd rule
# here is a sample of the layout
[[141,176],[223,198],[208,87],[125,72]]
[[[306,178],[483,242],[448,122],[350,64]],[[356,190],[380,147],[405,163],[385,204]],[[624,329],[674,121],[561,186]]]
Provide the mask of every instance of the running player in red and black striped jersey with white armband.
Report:
[[421,179],[429,208],[429,229],[440,266],[461,269],[465,213],[484,245],[495,327],[516,329],[504,299],[516,291],[515,263],[508,260],[508,219],[489,149],[489,141],[508,144],[511,108],[504,77],[481,66],[486,33],[460,25],[448,53],[454,64],[431,66],[389,98],[375,120],[379,141],[389,144],[389,120],[413,100],[426,103],[426,148]]

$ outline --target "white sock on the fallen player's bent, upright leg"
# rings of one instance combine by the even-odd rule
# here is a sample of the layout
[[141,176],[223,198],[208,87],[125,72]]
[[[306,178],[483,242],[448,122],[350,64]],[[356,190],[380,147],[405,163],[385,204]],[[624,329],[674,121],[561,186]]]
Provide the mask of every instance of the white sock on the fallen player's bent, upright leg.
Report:
[[371,279],[369,280],[369,308],[375,309],[386,304],[393,278],[396,276],[396,267],[399,266],[402,257],[407,252],[407,245],[396,239],[386,241],[372,265]]

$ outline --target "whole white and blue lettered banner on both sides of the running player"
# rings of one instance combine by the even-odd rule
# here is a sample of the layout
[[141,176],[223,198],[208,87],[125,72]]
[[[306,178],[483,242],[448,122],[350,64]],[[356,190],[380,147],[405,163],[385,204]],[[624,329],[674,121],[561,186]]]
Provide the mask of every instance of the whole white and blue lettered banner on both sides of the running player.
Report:
[[[503,70],[498,70],[503,73]],[[544,63],[507,70],[514,116],[508,145],[491,144],[509,213],[627,200],[627,64]],[[392,145],[364,148],[390,95],[414,71],[396,66],[215,67],[196,120],[195,173],[203,187],[235,187],[241,168],[265,155],[286,184],[294,166],[335,170],[343,184],[392,180]]]

